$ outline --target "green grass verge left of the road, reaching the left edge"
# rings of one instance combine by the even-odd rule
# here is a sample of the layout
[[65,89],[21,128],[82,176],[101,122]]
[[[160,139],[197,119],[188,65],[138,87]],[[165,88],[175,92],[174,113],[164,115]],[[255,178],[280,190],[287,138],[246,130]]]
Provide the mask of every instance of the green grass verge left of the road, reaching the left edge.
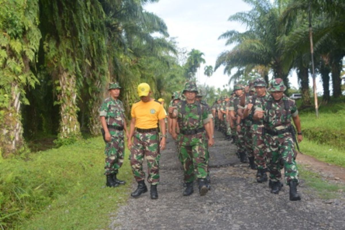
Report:
[[[125,186],[105,188],[101,137],[31,154],[28,161],[0,160],[0,223],[19,229],[101,229],[126,202],[132,181],[128,161],[119,172]],[[1,227],[0,227],[1,229]]]

